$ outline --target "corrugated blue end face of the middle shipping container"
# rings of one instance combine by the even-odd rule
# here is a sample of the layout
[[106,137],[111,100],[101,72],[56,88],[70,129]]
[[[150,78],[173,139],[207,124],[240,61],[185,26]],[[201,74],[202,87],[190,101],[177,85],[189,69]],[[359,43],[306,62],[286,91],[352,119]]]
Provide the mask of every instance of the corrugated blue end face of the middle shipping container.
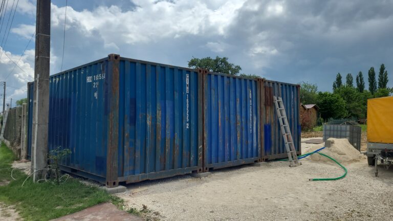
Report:
[[257,80],[204,75],[204,171],[260,159]]

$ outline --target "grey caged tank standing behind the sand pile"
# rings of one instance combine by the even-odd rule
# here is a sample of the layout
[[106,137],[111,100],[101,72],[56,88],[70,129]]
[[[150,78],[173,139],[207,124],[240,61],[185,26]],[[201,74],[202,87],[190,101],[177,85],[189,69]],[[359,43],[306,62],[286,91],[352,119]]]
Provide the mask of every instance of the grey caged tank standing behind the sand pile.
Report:
[[323,140],[346,138],[357,150],[361,147],[362,128],[355,125],[323,125]]

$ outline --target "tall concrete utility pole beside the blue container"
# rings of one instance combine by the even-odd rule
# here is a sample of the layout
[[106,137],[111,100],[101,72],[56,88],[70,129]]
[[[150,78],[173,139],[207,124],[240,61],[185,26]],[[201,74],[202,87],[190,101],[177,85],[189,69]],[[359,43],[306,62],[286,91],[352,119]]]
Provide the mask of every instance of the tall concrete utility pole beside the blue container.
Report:
[[[37,0],[35,33],[32,172],[46,168],[48,160],[51,0]],[[42,179],[45,174],[45,170],[35,172],[33,182]]]

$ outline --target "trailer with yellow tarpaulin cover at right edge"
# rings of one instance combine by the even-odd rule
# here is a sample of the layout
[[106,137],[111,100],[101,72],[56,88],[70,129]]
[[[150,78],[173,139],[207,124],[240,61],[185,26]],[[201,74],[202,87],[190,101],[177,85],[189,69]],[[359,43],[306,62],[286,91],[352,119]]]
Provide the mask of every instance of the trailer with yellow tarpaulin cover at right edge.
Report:
[[367,100],[367,162],[375,166],[378,161],[388,169],[393,163],[393,96]]

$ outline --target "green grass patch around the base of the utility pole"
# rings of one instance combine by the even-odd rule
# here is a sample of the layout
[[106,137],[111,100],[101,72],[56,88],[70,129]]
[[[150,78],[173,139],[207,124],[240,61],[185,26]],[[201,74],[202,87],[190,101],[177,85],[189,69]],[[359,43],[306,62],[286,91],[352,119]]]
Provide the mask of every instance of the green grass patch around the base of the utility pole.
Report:
[[36,184],[29,179],[21,187],[27,175],[14,170],[13,176],[17,180],[11,179],[11,163],[14,159],[12,151],[3,143],[0,146],[0,181],[11,182],[0,186],[0,201],[14,205],[25,220],[49,220],[104,202],[122,207],[123,202],[118,197],[72,178],[62,185]]

